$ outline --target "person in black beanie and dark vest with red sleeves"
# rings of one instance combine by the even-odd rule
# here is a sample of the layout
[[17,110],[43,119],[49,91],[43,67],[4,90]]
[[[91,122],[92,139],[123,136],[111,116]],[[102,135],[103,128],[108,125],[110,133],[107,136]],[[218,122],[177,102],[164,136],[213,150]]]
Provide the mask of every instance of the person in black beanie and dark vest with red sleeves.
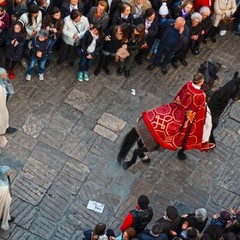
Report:
[[152,208],[148,206],[149,203],[148,197],[141,195],[138,198],[136,208],[125,217],[120,230],[124,232],[127,228],[134,227],[137,233],[142,232],[153,217]]

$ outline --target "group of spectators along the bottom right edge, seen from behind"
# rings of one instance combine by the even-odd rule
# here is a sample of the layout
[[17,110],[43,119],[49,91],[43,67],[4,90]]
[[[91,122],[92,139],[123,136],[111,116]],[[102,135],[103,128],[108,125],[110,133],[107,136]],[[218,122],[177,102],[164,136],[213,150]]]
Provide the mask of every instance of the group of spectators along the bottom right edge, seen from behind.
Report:
[[105,223],[84,231],[83,240],[238,240],[240,239],[240,208],[222,210],[209,220],[205,208],[179,215],[175,206],[168,206],[151,228],[153,210],[145,195],[138,198],[136,208],[125,217],[116,237]]

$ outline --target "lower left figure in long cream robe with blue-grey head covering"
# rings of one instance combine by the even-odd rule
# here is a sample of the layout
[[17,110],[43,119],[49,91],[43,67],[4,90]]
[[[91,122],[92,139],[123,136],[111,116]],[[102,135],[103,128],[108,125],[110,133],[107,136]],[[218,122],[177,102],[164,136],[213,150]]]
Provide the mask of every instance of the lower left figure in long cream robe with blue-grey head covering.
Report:
[[0,167],[0,219],[2,219],[1,228],[5,231],[9,229],[8,223],[13,222],[15,219],[10,216],[10,205],[12,202],[10,182],[8,180],[10,174],[11,170],[8,166]]

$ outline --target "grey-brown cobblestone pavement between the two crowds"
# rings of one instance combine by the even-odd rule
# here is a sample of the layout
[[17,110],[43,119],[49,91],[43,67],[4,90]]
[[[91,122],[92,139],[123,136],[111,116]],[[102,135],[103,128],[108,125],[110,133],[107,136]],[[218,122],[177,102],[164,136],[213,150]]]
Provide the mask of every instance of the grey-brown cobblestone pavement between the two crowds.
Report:
[[[146,61],[128,79],[116,76],[113,64],[110,76],[91,72],[90,81],[80,83],[77,66],[63,68],[54,58],[44,81],[35,75],[27,82],[18,66],[8,108],[19,131],[0,148],[1,162],[15,170],[16,220],[0,239],[81,239],[100,221],[118,229],[140,194],[150,197],[154,219],[169,204],[181,213],[205,207],[209,215],[239,206],[240,102],[221,120],[217,148],[209,153],[189,151],[186,161],[176,152],[154,153],[149,165],[138,162],[128,171],[116,162],[123,136],[142,111],[171,101],[204,60],[225,65],[219,76],[229,81],[240,70],[239,46],[240,38],[228,33],[197,57],[189,55],[186,68],[169,66],[166,76],[159,68],[145,70]],[[105,204],[103,213],[88,210],[89,200]]]

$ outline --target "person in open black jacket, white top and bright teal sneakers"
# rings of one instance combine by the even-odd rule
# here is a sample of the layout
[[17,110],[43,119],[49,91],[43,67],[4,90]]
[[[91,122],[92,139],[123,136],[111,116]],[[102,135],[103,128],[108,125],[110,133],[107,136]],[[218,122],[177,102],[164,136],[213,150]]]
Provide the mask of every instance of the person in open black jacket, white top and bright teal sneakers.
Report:
[[103,46],[104,35],[101,25],[93,26],[84,34],[80,46],[78,81],[89,81],[88,69]]

